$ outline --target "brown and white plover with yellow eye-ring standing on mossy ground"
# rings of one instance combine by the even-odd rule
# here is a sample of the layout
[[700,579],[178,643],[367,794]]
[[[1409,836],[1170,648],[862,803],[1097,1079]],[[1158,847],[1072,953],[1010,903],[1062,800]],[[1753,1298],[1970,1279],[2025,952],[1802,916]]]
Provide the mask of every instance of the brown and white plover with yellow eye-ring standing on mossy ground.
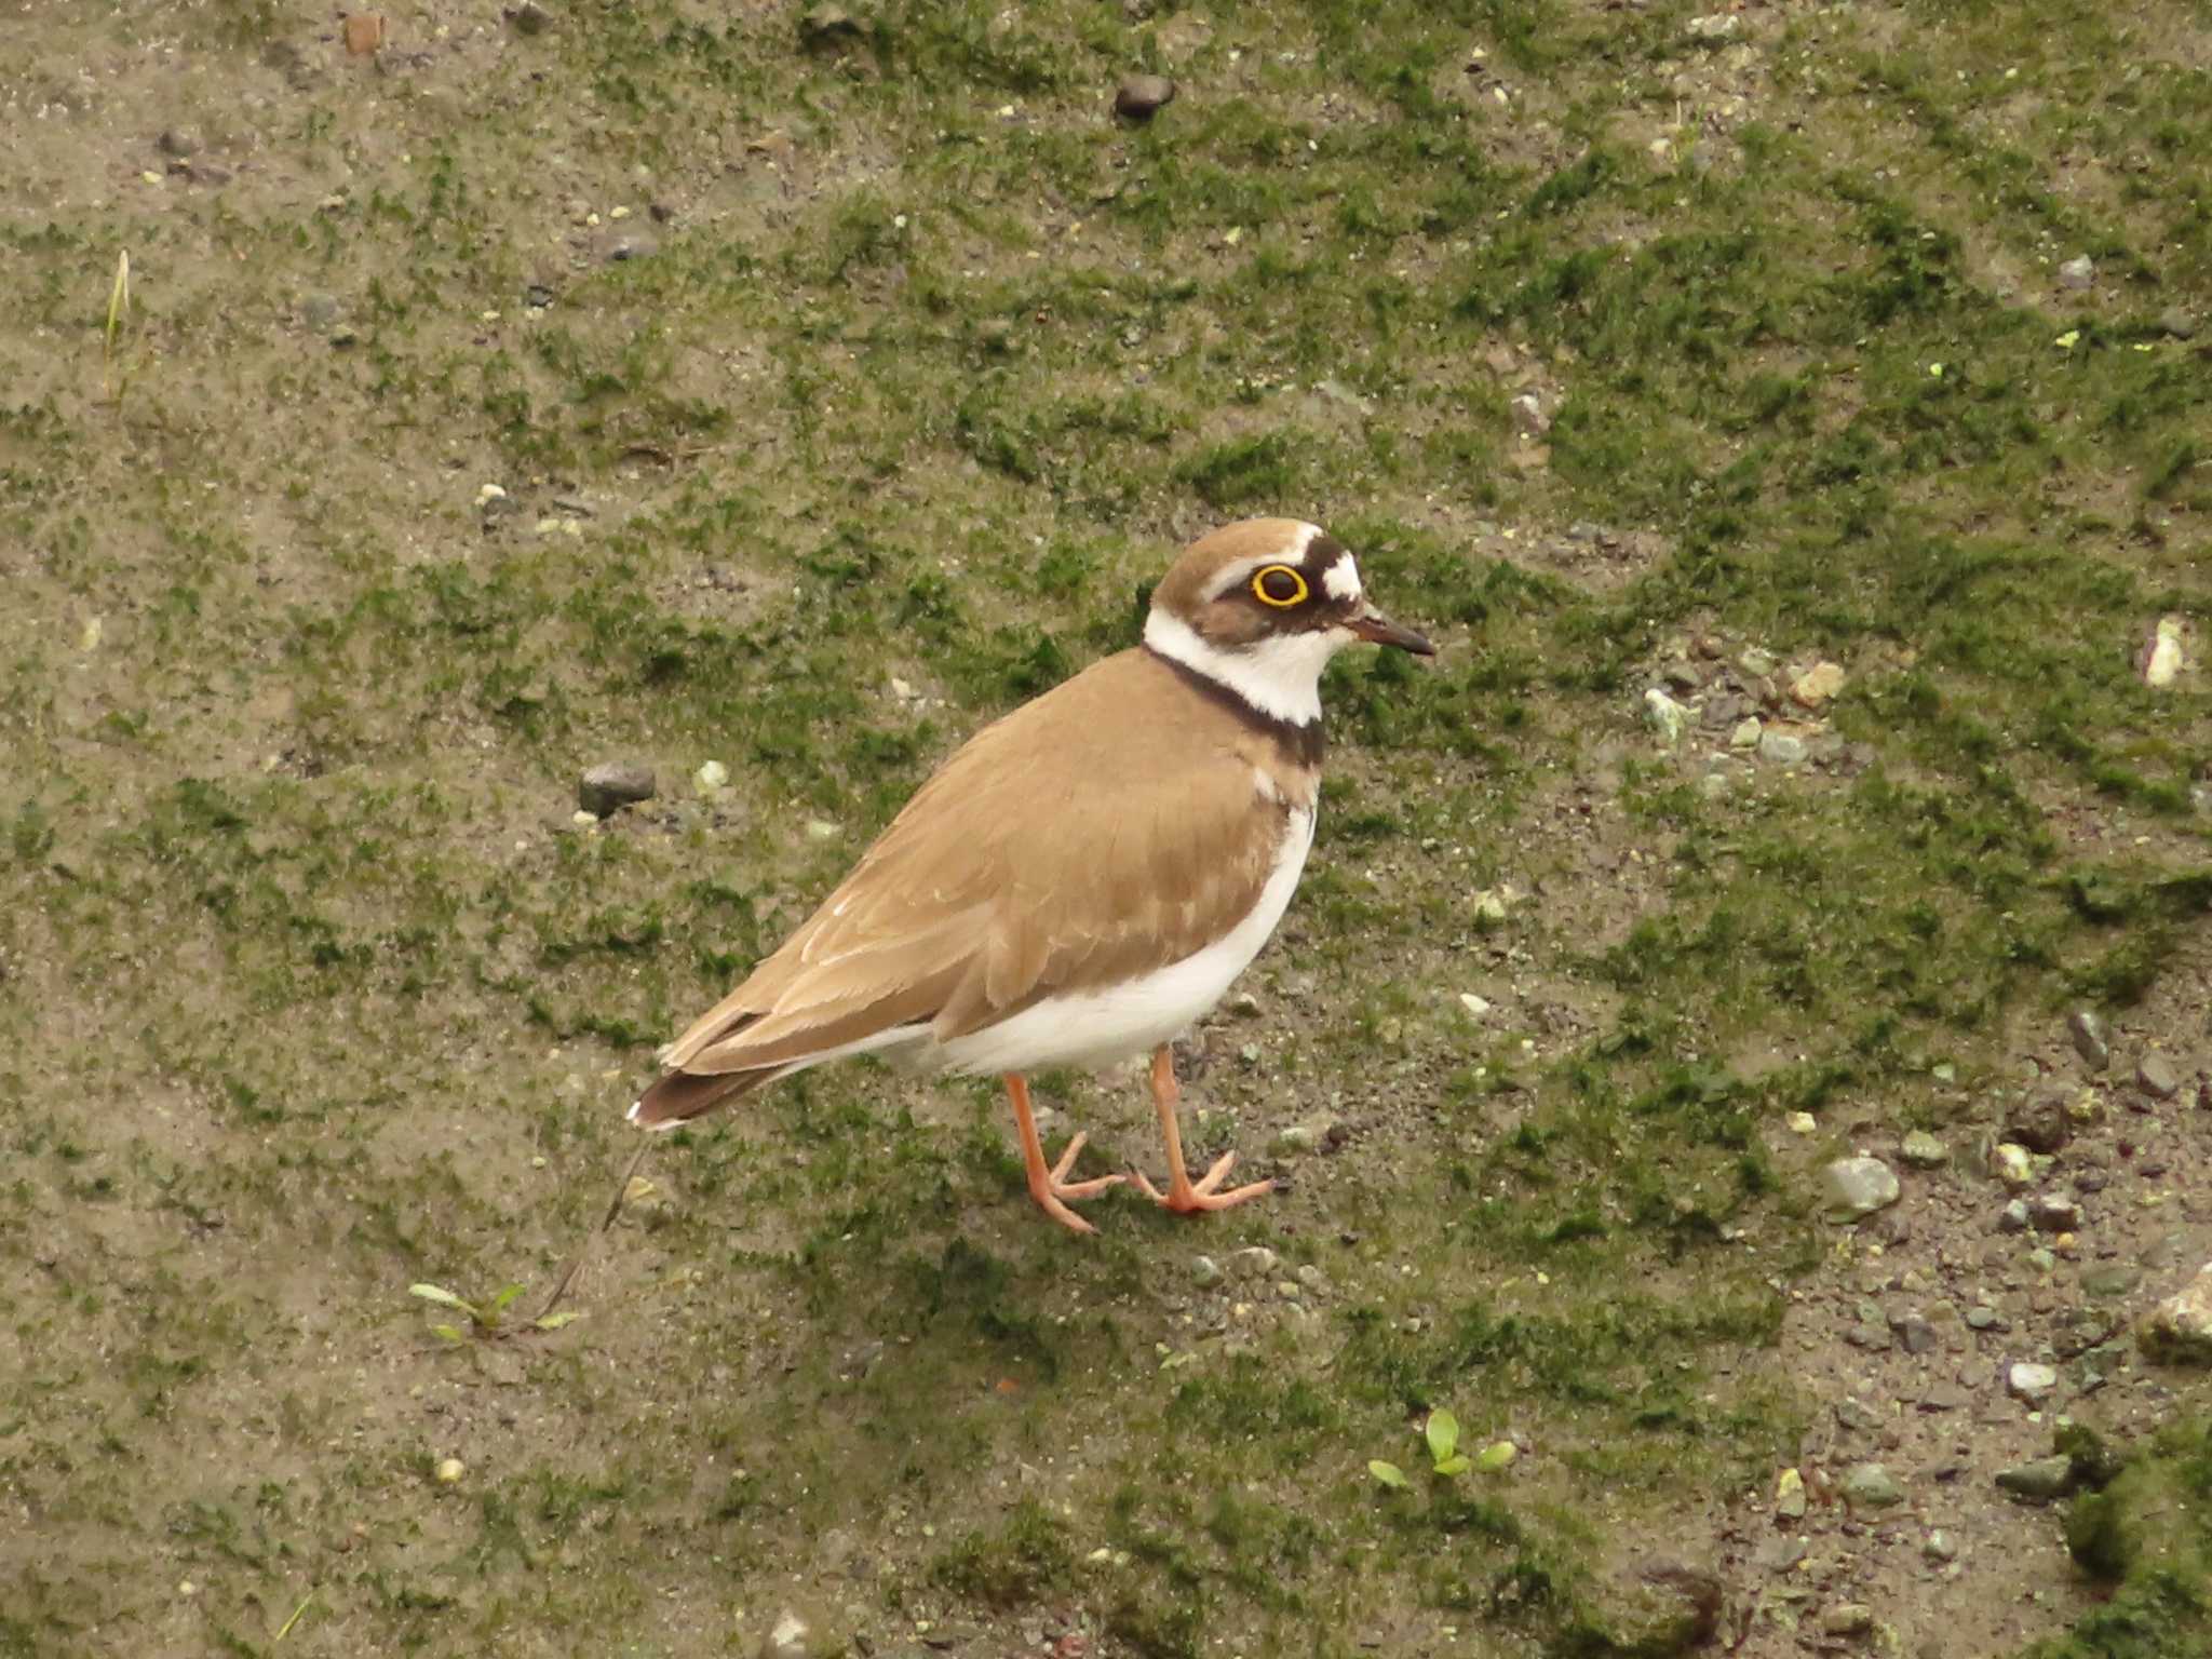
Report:
[[1383,615],[1352,549],[1254,518],[1199,538],[1152,588],[1137,646],[982,728],[772,956],[659,1051],[630,1121],[668,1130],[779,1077],[878,1055],[998,1075],[1029,1197],[1068,1206],[1084,1135],[1046,1164],[1029,1073],[1150,1051],[1177,1214],[1225,1210],[1237,1152],[1183,1164],[1172,1040],[1259,956],[1314,845],[1321,672],[1349,644],[1436,648]]

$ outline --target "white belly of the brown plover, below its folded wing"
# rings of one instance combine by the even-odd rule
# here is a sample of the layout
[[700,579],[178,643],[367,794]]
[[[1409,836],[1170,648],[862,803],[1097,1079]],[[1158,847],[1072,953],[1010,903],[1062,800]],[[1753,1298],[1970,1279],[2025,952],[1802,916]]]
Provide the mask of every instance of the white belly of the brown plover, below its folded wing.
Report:
[[1314,814],[1292,812],[1274,872],[1252,914],[1197,956],[1099,991],[1046,998],[1011,1020],[947,1044],[920,1044],[905,1060],[947,1071],[1000,1073],[1106,1066],[1157,1048],[1208,1013],[1252,964],[1290,909],[1312,845]]

